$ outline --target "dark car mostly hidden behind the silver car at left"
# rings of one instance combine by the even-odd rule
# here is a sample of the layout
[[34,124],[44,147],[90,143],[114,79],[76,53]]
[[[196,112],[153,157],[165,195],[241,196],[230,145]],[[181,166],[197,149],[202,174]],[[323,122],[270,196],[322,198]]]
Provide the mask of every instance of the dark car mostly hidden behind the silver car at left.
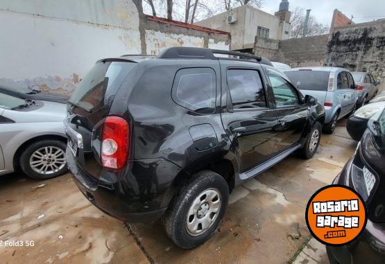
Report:
[[29,100],[44,100],[55,103],[67,103],[67,96],[61,94],[46,94],[42,93],[40,90],[27,89],[24,87],[19,87],[17,85],[12,85],[4,82],[0,82],[0,92],[2,94],[8,94],[9,96],[14,96],[22,99]]

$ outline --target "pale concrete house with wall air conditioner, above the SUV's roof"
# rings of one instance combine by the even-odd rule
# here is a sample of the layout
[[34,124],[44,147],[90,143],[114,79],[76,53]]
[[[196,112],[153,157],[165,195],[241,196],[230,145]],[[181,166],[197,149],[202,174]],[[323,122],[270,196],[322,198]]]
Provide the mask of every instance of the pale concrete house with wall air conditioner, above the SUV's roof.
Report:
[[[228,24],[230,14],[237,16],[237,22],[234,24]],[[196,24],[230,32],[232,50],[253,49],[258,26],[268,28],[268,38],[275,40],[288,38],[289,34],[282,33],[282,30],[291,30],[290,24],[281,22],[280,17],[248,5],[198,21]]]

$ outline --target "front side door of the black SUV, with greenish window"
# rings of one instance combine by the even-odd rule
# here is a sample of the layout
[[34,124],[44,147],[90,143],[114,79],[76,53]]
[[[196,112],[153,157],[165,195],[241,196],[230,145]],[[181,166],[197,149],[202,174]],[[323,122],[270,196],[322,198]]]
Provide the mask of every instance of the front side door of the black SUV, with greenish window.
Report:
[[298,89],[286,80],[285,76],[272,69],[266,69],[266,73],[273,88],[275,114],[278,118],[275,129],[277,140],[274,146],[274,152],[278,154],[299,143],[305,130],[309,109]]

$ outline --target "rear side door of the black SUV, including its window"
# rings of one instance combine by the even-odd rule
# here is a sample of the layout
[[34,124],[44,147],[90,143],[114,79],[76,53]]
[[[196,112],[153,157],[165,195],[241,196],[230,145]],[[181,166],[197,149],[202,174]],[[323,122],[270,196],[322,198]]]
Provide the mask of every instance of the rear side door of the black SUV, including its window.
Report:
[[221,118],[239,154],[240,173],[246,173],[273,157],[277,118],[268,101],[262,67],[239,64],[244,66],[221,60],[222,92],[227,94]]

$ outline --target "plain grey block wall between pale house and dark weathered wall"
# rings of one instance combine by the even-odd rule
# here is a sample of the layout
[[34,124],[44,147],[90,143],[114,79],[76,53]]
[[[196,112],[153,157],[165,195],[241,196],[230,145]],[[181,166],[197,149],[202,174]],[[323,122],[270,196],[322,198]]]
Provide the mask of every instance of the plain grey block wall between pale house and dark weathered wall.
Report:
[[275,59],[291,67],[323,66],[328,36],[282,40]]

